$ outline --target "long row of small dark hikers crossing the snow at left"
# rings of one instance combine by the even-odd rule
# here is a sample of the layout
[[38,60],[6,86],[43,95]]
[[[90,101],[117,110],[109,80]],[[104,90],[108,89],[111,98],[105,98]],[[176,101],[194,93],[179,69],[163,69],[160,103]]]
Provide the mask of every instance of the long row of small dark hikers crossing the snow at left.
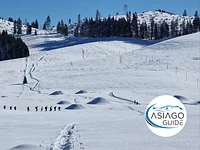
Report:
[[[6,110],[6,109],[7,109],[7,106],[4,105],[4,106],[3,106],[3,109]],[[10,110],[12,110],[12,109],[13,109],[13,110],[17,110],[17,106],[14,106],[14,107],[13,107],[13,106],[10,106],[10,107],[8,107],[8,109],[10,109]],[[26,110],[29,112],[29,111],[30,111],[30,107],[28,106],[28,107],[26,108]],[[56,110],[61,111],[61,107],[57,107],[57,106],[54,106],[54,107],[53,107],[53,106],[50,106],[50,107],[49,107],[49,111],[56,111]],[[35,111],[39,111],[39,107],[38,107],[38,106],[35,107]],[[45,107],[42,106],[42,107],[40,108],[40,111],[48,111],[48,106],[45,106]]]

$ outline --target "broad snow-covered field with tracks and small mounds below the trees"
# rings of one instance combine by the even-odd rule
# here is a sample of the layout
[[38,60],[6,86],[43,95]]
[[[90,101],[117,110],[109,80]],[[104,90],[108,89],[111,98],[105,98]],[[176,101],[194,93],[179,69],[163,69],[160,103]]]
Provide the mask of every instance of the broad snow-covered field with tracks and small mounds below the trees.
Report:
[[[31,56],[0,62],[1,150],[199,149],[200,33],[162,42],[47,32],[22,38]],[[170,138],[154,135],[144,117],[165,94],[181,96],[188,113]]]

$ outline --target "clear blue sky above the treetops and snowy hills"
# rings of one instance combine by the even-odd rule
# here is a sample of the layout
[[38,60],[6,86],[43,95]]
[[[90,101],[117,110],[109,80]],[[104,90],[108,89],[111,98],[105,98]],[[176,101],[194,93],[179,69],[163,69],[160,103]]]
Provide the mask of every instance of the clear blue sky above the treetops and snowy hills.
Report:
[[162,9],[178,15],[182,15],[184,9],[190,16],[198,10],[200,14],[200,0],[1,0],[0,17],[8,19],[20,17],[22,22],[27,18],[28,22],[38,19],[42,26],[47,16],[52,20],[52,25],[56,25],[61,19],[65,23],[71,19],[77,21],[80,13],[81,19],[94,17],[99,9],[102,17],[125,14],[123,7],[128,5],[131,12],[143,12]]

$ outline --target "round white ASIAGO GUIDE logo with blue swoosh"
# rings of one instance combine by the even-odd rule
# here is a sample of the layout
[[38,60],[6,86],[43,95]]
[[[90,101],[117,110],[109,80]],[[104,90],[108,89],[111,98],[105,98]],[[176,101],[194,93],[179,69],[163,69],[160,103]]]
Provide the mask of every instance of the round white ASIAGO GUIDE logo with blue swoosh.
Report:
[[145,120],[149,129],[158,136],[170,137],[179,133],[187,120],[183,103],[163,95],[153,99],[146,108]]

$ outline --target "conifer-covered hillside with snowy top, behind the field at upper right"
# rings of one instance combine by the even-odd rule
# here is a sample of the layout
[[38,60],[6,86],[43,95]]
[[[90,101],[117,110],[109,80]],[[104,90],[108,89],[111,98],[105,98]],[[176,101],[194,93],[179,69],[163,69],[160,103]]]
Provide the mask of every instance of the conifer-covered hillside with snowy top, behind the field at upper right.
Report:
[[157,10],[137,14],[126,13],[125,16],[108,16],[101,18],[99,10],[96,18],[86,18],[78,23],[74,30],[75,37],[133,37],[148,40],[158,40],[187,35],[200,31],[200,17],[198,11],[193,17],[187,16],[184,10],[183,16]]

